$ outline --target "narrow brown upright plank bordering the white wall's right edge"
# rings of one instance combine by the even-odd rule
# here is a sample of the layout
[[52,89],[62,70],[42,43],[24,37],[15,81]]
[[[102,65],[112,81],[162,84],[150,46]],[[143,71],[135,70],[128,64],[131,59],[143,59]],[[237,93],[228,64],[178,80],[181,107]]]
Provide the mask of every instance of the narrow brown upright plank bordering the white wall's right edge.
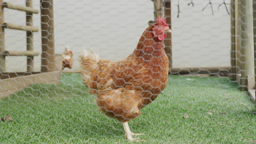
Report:
[[230,21],[231,21],[231,50],[230,50],[230,79],[236,80],[236,19],[235,19],[235,0],[230,0]]

